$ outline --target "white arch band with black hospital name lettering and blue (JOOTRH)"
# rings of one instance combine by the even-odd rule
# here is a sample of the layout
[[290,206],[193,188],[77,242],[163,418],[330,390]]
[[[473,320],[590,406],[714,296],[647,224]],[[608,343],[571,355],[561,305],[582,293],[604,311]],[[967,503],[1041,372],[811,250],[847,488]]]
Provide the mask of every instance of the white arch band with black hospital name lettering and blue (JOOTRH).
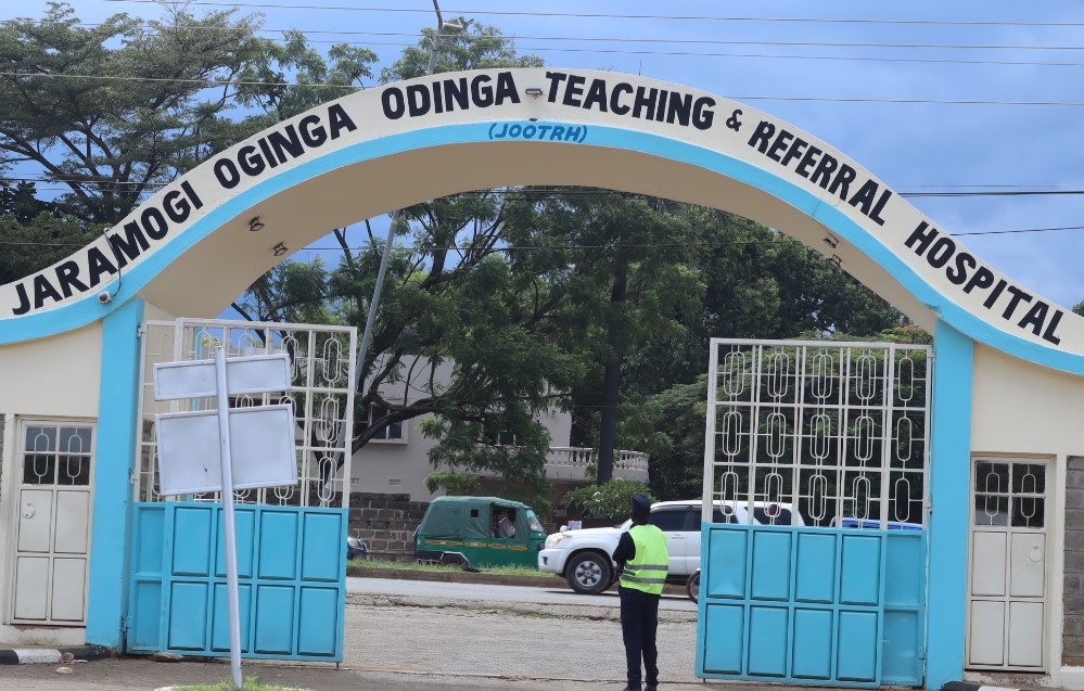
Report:
[[[374,98],[379,98],[379,104],[365,111],[361,106]],[[742,107],[691,89],[607,73],[505,69],[388,85],[379,90],[379,95],[361,92],[319,106],[215,156],[197,169],[203,175],[186,176],[105,233],[103,241],[9,286],[8,291],[14,291],[9,309],[12,316],[26,315],[107,284],[123,269],[183,230],[193,215],[207,206],[204,200],[219,200],[224,190],[243,188],[294,159],[320,155],[329,142],[350,135],[379,139],[392,123],[401,128],[417,119],[417,125],[406,127],[434,127],[445,114],[469,112],[466,121],[488,126],[490,140],[589,143],[587,133],[592,123],[628,128],[646,128],[651,123],[654,132],[660,131],[660,125],[675,128],[675,138],[686,137],[698,145],[775,169],[816,188],[826,201],[845,204],[868,219],[868,231],[897,255],[913,254],[911,263],[928,264],[934,272],[922,272],[933,277],[945,289],[943,292],[959,291],[960,298],[978,296],[991,321],[999,319],[1051,345],[1061,344],[1057,332],[1064,317],[1062,310],[1000,278],[929,222],[921,221],[917,228],[911,228],[910,221],[906,228],[901,228],[898,220],[892,222],[898,197],[880,181],[827,146],[818,146],[807,136],[787,129],[786,124],[763,116],[750,116],[744,123]],[[498,113],[502,108],[512,108],[514,115],[501,117]],[[569,117],[570,108],[585,115]],[[532,116],[526,117],[525,111]],[[362,112],[371,114],[371,121],[364,121],[359,115]],[[534,114],[545,114],[552,121],[537,123]],[[710,139],[704,140],[701,132]],[[339,142],[348,143],[353,141]],[[215,183],[218,190],[214,194],[199,189]],[[14,307],[11,303],[15,303]]]

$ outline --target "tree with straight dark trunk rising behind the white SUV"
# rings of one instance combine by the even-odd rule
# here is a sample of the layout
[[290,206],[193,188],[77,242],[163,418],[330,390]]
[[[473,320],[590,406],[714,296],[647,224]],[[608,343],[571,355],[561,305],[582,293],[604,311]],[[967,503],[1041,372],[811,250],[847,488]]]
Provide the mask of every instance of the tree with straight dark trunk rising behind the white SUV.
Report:
[[690,231],[659,200],[583,189],[524,194],[506,208],[506,238],[515,246],[545,243],[538,247],[545,255],[524,255],[520,261],[531,264],[519,268],[551,276],[573,298],[562,319],[565,329],[578,327],[569,347],[586,350],[592,364],[573,397],[599,411],[592,446],[602,484],[612,474],[624,353],[672,341],[681,332],[679,318],[699,302],[700,280],[685,267]]

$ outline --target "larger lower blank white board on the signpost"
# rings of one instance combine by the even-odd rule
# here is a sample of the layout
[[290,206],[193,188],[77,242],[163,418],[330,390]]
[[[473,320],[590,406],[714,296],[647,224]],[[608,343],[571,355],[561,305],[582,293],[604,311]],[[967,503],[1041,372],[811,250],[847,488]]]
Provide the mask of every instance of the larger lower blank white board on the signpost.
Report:
[[[222,490],[218,411],[155,415],[160,494],[194,495]],[[230,411],[233,488],[297,484],[294,414],[289,405]]]

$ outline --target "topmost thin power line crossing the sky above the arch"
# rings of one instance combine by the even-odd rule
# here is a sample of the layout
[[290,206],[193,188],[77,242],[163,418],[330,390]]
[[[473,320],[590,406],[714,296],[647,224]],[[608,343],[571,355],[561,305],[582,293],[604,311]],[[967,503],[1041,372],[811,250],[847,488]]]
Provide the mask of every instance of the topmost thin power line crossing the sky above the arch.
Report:
[[[158,0],[104,0],[105,2],[157,3]],[[429,14],[430,10],[416,8],[358,8],[345,5],[313,5],[284,4],[272,2],[208,2],[203,0],[189,1],[186,4],[202,4],[229,8],[259,8],[277,10],[334,10],[346,12],[387,12]],[[596,20],[649,20],[674,22],[765,22],[765,23],[800,23],[800,24],[888,24],[917,26],[1028,26],[1028,27],[1077,27],[1084,22],[1017,22],[1004,20],[875,20],[875,18],[829,18],[829,17],[756,17],[756,16],[714,16],[686,14],[615,14],[595,12],[524,12],[513,10],[445,10],[446,14],[481,14],[485,16],[526,16],[526,17],[574,17]]]

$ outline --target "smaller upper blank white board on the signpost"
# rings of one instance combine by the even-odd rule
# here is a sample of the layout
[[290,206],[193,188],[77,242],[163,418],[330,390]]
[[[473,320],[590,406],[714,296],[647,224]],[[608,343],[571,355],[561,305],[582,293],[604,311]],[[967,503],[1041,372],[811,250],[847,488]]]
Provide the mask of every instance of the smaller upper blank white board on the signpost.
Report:
[[[207,398],[218,394],[214,360],[160,362],[154,366],[154,398]],[[290,356],[254,355],[226,360],[229,396],[282,392],[291,386]]]

